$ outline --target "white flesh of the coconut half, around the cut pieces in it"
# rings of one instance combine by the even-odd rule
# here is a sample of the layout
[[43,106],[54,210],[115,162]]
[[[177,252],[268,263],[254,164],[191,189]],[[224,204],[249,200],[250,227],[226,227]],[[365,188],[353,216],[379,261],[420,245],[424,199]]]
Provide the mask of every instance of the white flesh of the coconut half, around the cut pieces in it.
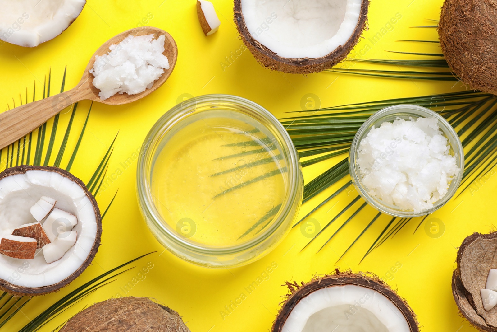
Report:
[[[97,219],[84,190],[57,172],[27,170],[0,180],[0,236],[4,237],[25,223],[35,222],[29,208],[42,196],[57,201],[55,208],[78,219],[72,229],[77,241],[64,256],[47,264],[42,249],[34,259],[17,259],[0,255],[0,279],[22,287],[54,285],[76,272],[91,252],[97,234]],[[23,272],[19,273],[19,267]]]

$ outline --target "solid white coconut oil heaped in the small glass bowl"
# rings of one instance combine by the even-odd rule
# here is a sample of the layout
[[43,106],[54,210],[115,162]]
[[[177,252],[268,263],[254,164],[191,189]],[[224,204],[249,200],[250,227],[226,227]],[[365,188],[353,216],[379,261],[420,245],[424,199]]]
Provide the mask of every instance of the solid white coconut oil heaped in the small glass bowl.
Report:
[[359,143],[357,158],[362,184],[371,196],[419,212],[447,194],[460,170],[437,121],[398,118],[371,128]]

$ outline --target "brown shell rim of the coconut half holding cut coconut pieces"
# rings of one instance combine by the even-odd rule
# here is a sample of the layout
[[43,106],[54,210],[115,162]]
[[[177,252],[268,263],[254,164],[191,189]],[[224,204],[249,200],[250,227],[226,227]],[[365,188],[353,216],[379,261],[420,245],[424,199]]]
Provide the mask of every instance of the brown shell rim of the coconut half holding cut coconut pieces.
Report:
[[34,295],[43,295],[43,294],[48,294],[52,293],[55,291],[58,291],[62,287],[65,287],[71,283],[74,279],[79,277],[81,273],[91,264],[91,261],[95,257],[95,254],[98,251],[98,247],[100,246],[100,237],[102,235],[102,217],[100,216],[100,210],[98,209],[98,205],[96,203],[95,198],[91,193],[88,191],[86,186],[84,185],[83,181],[75,177],[73,174],[69,173],[68,171],[58,168],[58,167],[53,167],[53,166],[31,166],[31,165],[20,165],[20,166],[15,166],[11,168],[7,168],[3,172],[0,173],[0,180],[3,179],[4,177],[10,176],[10,175],[15,175],[15,174],[23,174],[28,170],[43,170],[43,171],[50,171],[50,172],[57,172],[60,175],[69,178],[73,182],[77,183],[83,191],[86,193],[86,197],[90,200],[91,205],[93,206],[93,211],[95,212],[95,217],[96,217],[96,225],[97,225],[97,232],[95,236],[95,241],[93,242],[93,246],[91,247],[90,253],[88,254],[88,257],[86,257],[86,260],[84,263],[80,266],[78,270],[76,270],[72,275],[67,277],[66,279],[50,286],[44,286],[44,287],[21,287],[17,286],[15,284],[11,284],[5,280],[0,279],[0,290],[6,291],[12,295],[15,296],[34,296]]

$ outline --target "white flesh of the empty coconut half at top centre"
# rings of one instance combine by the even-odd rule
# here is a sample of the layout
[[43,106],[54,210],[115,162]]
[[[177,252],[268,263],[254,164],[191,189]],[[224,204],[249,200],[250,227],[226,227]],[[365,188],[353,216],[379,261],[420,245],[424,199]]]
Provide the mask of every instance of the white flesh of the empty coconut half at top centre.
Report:
[[250,35],[283,58],[321,58],[344,45],[361,0],[241,0]]

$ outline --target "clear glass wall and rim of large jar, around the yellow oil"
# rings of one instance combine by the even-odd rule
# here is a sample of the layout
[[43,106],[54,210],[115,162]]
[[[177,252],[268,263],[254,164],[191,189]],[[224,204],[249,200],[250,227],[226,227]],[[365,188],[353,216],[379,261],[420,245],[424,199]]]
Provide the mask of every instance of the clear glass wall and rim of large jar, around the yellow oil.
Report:
[[[154,178],[154,168],[167,142],[173,142],[171,139],[174,135],[181,137],[177,136],[178,132],[182,128],[189,128],[188,123],[196,123],[192,122],[193,119],[208,120],[210,116],[212,117],[209,114],[219,110],[228,110],[234,112],[235,115],[243,114],[240,116],[249,116],[250,119],[261,124],[263,131],[272,137],[274,147],[271,145],[271,149],[279,151],[278,158],[286,167],[285,173],[282,173],[286,193],[284,197],[278,198],[281,199],[281,207],[272,221],[248,240],[233,245],[206,245],[183,236],[177,227],[173,227],[175,220],[164,217],[165,215],[160,213],[161,202],[158,202],[152,190],[155,185],[154,181],[161,180]],[[213,155],[214,157],[216,156]],[[195,177],[197,174],[191,174],[191,176]],[[304,181],[298,153],[283,125],[261,106],[236,96],[205,95],[176,105],[154,124],[143,143],[138,159],[138,202],[150,230],[159,242],[176,256],[207,267],[224,268],[245,265],[272,250],[289,232],[297,218],[302,204],[303,187]],[[168,218],[170,220],[166,220]]]

